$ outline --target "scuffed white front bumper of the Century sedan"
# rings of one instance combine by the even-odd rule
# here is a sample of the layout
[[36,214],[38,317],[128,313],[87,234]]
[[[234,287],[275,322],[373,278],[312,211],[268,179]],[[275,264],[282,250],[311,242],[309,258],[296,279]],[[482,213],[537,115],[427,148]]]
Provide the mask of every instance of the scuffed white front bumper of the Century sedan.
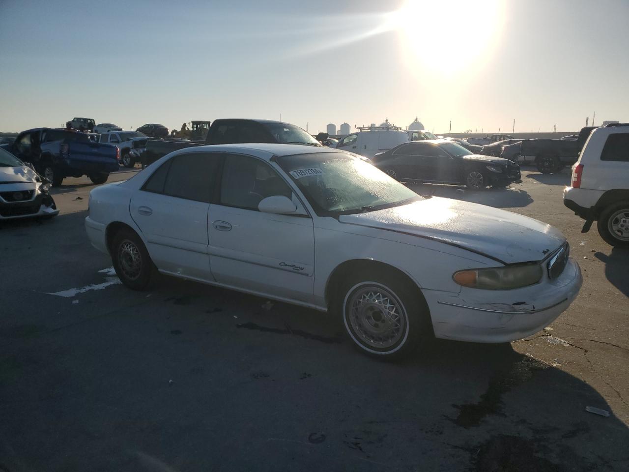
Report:
[[469,342],[508,342],[553,322],[577,297],[581,269],[569,259],[556,279],[520,289],[462,289],[459,294],[424,290],[435,337]]

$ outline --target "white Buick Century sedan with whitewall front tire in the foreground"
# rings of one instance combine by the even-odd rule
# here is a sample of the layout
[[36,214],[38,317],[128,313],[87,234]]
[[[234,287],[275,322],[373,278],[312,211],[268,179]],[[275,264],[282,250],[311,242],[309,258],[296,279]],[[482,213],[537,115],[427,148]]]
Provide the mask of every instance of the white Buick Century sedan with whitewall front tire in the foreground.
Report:
[[422,198],[355,155],[300,145],[182,149],[90,193],[86,229],[121,281],[156,273],[343,317],[379,357],[426,336],[506,342],[581,288],[565,237],[526,216]]

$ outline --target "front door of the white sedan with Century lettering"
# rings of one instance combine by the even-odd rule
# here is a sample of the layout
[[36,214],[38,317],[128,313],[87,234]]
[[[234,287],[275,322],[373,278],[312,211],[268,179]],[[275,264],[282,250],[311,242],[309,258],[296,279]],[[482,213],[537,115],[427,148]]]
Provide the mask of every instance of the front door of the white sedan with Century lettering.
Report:
[[[291,198],[304,215],[262,213],[268,196]],[[216,281],[281,298],[313,301],[313,220],[268,162],[225,154],[216,203],[209,207],[209,254]]]

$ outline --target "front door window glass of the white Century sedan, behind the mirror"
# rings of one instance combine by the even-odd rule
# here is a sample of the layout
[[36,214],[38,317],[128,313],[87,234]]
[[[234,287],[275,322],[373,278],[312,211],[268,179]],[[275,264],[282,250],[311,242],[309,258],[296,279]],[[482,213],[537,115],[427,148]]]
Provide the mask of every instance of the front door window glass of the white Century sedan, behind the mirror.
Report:
[[225,155],[220,205],[258,211],[262,199],[276,195],[292,198],[292,189],[269,164],[247,155]]

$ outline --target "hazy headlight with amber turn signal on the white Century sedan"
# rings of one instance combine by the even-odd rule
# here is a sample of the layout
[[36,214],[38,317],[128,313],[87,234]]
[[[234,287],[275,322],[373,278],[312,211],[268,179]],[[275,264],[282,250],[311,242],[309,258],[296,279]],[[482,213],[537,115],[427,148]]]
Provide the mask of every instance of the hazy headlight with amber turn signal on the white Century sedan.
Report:
[[469,269],[455,272],[454,281],[464,287],[484,290],[510,290],[538,283],[542,278],[540,264]]

